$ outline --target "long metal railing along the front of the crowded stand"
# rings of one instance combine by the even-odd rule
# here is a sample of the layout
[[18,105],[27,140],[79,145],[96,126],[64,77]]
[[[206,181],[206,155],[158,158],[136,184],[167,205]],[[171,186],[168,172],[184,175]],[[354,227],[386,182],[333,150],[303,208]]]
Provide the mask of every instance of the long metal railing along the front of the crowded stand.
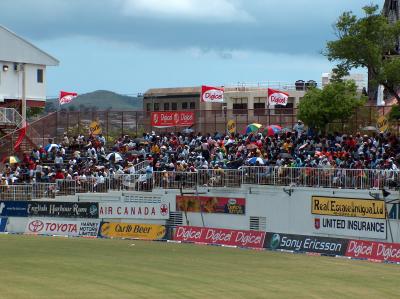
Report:
[[330,169],[292,167],[242,167],[200,169],[196,172],[155,171],[149,173],[57,180],[55,183],[0,186],[1,200],[32,200],[82,193],[152,191],[197,187],[240,188],[249,185],[297,186],[341,189],[397,189],[400,171],[379,169]]

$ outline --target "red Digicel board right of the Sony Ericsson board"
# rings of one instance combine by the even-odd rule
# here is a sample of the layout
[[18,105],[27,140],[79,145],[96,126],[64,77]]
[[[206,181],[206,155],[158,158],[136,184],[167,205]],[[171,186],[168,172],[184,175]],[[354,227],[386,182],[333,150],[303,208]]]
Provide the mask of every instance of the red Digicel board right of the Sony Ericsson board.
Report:
[[350,240],[346,256],[400,263],[400,244]]

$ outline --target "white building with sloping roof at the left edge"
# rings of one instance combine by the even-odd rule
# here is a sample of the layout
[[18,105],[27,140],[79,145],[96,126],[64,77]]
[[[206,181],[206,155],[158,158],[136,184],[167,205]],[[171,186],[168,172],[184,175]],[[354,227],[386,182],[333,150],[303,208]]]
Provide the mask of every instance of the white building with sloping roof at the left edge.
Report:
[[24,91],[28,107],[44,106],[46,67],[59,61],[1,25],[0,45],[0,106],[18,107]]

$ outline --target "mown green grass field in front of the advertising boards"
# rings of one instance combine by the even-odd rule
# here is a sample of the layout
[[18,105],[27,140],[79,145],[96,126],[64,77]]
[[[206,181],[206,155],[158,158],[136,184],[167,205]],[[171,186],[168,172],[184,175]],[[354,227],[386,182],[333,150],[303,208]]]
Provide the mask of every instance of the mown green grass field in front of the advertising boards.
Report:
[[400,297],[397,265],[132,240],[0,244],[0,298]]

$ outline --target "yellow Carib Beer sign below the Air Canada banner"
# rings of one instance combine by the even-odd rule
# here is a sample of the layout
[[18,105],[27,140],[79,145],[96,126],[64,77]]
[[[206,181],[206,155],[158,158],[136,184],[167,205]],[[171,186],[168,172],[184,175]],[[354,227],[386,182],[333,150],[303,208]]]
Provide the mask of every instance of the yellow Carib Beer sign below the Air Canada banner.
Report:
[[165,237],[166,228],[156,224],[105,222],[101,225],[100,234],[108,238],[159,240]]

